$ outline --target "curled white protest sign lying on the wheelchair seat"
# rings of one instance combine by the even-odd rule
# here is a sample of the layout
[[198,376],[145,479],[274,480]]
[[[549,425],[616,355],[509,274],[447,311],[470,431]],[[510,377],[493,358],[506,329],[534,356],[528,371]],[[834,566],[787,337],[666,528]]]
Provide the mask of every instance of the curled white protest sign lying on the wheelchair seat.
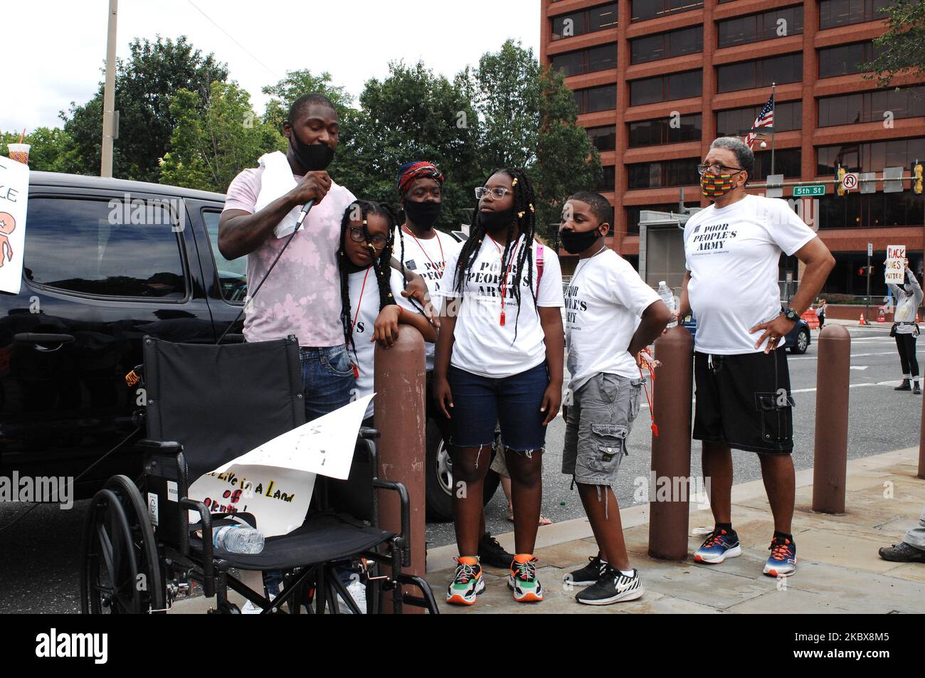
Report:
[[[190,487],[190,498],[210,512],[247,512],[264,536],[285,535],[302,524],[316,474],[345,480],[356,437],[372,395],[344,405],[268,440],[219,466]],[[195,512],[190,520],[198,521]]]

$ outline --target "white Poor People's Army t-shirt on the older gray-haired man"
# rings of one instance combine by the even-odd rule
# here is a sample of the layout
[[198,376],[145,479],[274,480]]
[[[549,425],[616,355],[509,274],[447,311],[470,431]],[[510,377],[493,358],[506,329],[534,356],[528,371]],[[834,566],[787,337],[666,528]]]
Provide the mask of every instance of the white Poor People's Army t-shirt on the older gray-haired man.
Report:
[[685,224],[687,294],[697,318],[695,350],[755,353],[760,332],[748,330],[781,313],[778,262],[816,234],[783,200],[746,195],[710,205]]

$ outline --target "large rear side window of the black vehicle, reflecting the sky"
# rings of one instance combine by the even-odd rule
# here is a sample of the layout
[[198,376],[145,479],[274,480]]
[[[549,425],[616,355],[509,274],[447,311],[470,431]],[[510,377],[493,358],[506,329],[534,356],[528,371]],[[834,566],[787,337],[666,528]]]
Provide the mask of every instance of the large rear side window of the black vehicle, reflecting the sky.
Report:
[[98,296],[184,299],[177,209],[159,199],[123,203],[31,198],[26,279]]

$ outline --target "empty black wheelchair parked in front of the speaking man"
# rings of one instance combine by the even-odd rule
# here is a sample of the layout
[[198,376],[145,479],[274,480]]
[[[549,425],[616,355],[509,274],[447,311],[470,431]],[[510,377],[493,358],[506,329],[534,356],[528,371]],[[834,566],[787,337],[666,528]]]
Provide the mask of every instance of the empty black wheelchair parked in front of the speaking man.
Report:
[[[188,497],[198,478],[266,440],[302,425],[302,369],[294,337],[259,343],[177,344],[143,339],[143,418],[147,438],[136,443],[143,471],[136,481],[115,475],[93,497],[82,538],[80,604],[84,613],[163,613],[191,582],[209,612],[238,613],[228,588],[263,614],[351,613],[358,605],[344,573],[364,584],[366,610],[401,613],[404,605],[438,613],[427,582],[402,568],[411,564],[410,509],[405,487],[377,477],[375,429],[361,429],[355,455],[368,461],[372,495],[366,520],[336,512],[327,503],[327,478],[317,476],[312,509],[304,523],[283,536],[265,539],[257,554],[213,546],[213,530],[243,521],[247,513],[210,513]],[[356,487],[352,483],[351,487]],[[401,529],[379,526],[379,491],[398,493]],[[192,512],[198,520],[192,523]],[[245,586],[236,571],[283,573],[272,600]]]

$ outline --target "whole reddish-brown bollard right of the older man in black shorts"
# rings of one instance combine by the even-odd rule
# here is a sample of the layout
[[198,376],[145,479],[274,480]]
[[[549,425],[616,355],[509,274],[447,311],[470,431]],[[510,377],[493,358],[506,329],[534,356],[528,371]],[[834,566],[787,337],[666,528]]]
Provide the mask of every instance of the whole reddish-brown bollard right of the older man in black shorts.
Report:
[[812,472],[812,510],[845,512],[848,467],[848,367],[851,335],[841,325],[819,335],[816,361],[816,448]]

